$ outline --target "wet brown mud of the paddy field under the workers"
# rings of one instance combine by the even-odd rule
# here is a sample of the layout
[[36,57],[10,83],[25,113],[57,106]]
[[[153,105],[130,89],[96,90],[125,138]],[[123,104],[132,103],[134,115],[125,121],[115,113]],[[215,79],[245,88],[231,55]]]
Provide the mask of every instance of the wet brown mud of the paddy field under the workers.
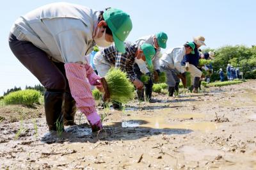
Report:
[[[100,109],[104,130],[1,121],[2,169],[256,169],[256,81]],[[1,113],[0,113],[1,114]],[[12,114],[12,112],[10,112]]]

